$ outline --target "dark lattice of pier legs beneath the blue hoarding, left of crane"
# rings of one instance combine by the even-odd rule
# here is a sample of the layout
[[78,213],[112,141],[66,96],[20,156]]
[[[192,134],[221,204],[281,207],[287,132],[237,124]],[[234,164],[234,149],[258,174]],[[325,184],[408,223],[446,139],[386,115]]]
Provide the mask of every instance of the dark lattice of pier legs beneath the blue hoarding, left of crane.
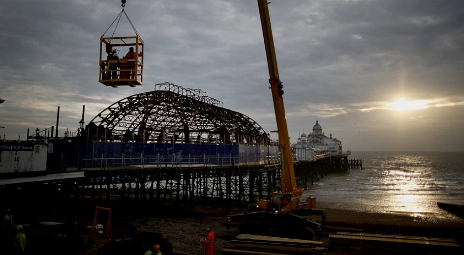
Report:
[[[87,170],[86,178],[75,182],[69,197],[94,201],[152,201],[193,208],[215,204],[229,210],[241,209],[256,199],[269,198],[280,178],[280,169],[263,165],[207,168],[162,167],[154,169]],[[78,192],[79,191],[79,192]],[[105,194],[105,196],[103,195]]]

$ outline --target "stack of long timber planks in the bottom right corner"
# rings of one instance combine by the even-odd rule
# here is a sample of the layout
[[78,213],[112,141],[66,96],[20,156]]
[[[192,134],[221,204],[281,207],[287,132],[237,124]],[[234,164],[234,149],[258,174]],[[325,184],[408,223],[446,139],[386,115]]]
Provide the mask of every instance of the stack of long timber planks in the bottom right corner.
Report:
[[329,250],[349,254],[464,254],[454,239],[337,232],[329,235]]

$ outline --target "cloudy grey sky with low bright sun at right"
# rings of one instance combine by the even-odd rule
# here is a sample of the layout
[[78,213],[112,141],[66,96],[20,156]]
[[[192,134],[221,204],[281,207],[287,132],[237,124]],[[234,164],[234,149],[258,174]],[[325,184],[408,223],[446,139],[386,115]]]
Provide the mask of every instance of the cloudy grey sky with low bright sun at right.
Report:
[[[120,0],[3,0],[0,135],[59,135],[169,82],[277,129],[255,0],[127,0],[144,85],[98,83],[99,39]],[[461,0],[271,0],[291,142],[323,132],[352,151],[464,151]],[[105,33],[105,34],[104,34]],[[123,17],[114,36],[134,36]],[[120,53],[120,56],[125,52]],[[277,139],[277,134],[271,134]]]

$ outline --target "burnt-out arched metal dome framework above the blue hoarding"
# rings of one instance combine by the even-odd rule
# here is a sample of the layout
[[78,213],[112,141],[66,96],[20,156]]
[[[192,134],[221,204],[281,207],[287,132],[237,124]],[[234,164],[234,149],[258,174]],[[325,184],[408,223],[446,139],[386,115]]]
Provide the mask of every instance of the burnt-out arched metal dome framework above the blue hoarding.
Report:
[[126,97],[87,125],[88,140],[267,145],[268,135],[248,116],[222,107],[201,89],[170,83]]

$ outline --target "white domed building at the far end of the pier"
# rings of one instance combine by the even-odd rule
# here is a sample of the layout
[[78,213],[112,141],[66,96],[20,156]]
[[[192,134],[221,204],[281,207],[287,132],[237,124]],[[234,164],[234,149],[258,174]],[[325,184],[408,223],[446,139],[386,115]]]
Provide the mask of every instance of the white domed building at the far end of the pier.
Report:
[[309,161],[325,155],[341,155],[341,141],[324,135],[319,121],[312,127],[309,135],[303,133],[292,146],[294,153],[300,161]]

